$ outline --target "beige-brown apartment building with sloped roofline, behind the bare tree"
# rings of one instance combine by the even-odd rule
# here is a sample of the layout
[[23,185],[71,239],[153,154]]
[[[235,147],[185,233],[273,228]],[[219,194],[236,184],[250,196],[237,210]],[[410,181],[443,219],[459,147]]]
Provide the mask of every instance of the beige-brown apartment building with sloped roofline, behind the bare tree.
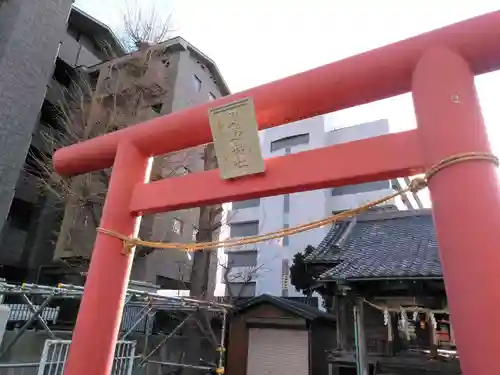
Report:
[[[145,56],[147,72],[140,78],[131,77],[136,69],[130,67],[137,66],[138,62],[142,65]],[[125,107],[130,102],[126,97],[137,96],[133,86],[141,90],[135,121],[146,121],[229,94],[215,63],[180,37],[89,67],[86,73],[97,82],[91,121],[99,121],[101,114],[111,106],[110,102],[118,103],[115,105],[119,113],[126,113],[129,108]],[[168,178],[202,171],[203,150],[197,147],[156,158],[153,177]],[[140,236],[153,241],[188,243],[196,239],[198,225],[198,208],[151,215],[143,218]],[[209,290],[215,288],[216,270],[214,255]],[[132,278],[164,288],[186,289],[184,282],[189,282],[190,271],[190,254],[169,249],[137,256]],[[175,283],[176,280],[181,282]]]

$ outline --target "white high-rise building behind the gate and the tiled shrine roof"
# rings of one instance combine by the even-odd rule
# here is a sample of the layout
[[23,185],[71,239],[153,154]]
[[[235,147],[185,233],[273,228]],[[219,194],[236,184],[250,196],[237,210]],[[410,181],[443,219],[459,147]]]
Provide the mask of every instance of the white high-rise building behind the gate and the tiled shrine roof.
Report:
[[[263,131],[261,148],[264,157],[269,158],[388,133],[387,120],[325,132],[324,117],[319,116]],[[327,160],[324,167],[328,168]],[[273,232],[323,219],[332,213],[358,207],[391,194],[393,189],[400,189],[404,184],[404,180],[385,180],[234,202],[228,212],[229,236],[243,237]],[[402,201],[387,204],[398,205],[401,208],[421,206],[416,196],[404,197]],[[304,251],[308,245],[317,246],[328,233],[329,227],[285,237],[282,241],[227,250],[229,273],[225,280],[226,294],[241,297],[262,293],[275,296],[303,296],[290,284],[289,268],[293,256]],[[253,270],[257,271],[254,275],[249,275]]]

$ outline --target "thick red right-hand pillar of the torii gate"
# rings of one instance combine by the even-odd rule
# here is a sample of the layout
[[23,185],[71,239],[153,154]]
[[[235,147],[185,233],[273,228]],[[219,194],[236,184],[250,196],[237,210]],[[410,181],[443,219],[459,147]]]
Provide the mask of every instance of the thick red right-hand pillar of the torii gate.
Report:
[[[444,47],[429,49],[413,75],[427,165],[461,152],[491,152],[474,75]],[[500,190],[488,161],[456,164],[430,180],[448,304],[465,375],[500,374]],[[464,227],[466,229],[464,229]]]

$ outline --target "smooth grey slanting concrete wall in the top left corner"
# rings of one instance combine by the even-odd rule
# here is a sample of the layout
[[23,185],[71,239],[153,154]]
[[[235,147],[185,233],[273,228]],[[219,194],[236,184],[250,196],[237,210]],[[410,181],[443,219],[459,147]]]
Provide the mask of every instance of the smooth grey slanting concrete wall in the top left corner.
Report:
[[[72,0],[16,0],[0,7],[0,228],[52,75]],[[0,262],[11,263],[12,257]]]

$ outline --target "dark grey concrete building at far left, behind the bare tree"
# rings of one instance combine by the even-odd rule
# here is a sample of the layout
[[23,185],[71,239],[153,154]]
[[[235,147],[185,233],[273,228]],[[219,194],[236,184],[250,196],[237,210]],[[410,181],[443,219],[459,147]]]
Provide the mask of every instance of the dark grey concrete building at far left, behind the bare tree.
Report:
[[[70,16],[72,3],[19,0],[0,5],[0,272],[10,280],[24,279],[29,269],[51,260],[54,228],[46,224],[57,213],[40,194],[36,166],[28,155],[43,148],[40,130],[56,123],[57,77],[80,65],[80,58],[94,56],[91,63],[104,58],[92,48],[89,33],[80,42],[66,33],[68,24],[76,23],[78,29],[82,21],[74,11]],[[87,31],[92,27],[101,37],[110,36],[109,29],[106,33],[97,25]]]

